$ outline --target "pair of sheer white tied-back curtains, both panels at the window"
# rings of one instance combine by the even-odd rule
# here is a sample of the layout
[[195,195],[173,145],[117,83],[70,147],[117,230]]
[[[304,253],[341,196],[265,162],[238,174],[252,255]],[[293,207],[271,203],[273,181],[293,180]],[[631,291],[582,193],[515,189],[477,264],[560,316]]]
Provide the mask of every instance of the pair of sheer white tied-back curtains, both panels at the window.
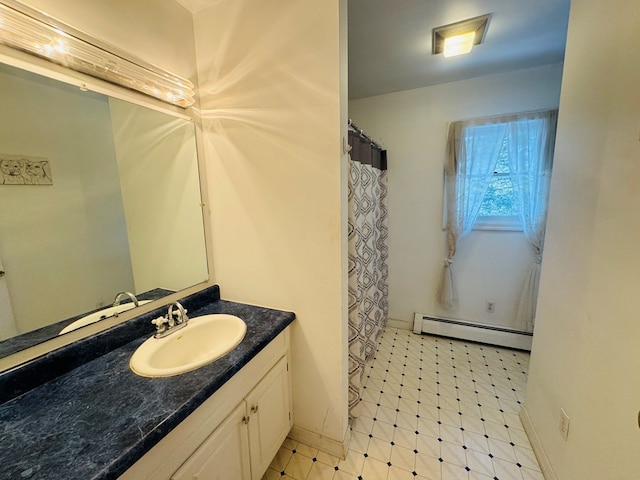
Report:
[[549,197],[557,110],[529,112],[452,123],[445,165],[447,257],[437,292],[444,309],[457,301],[453,257],[458,242],[473,228],[506,144],[518,217],[536,258],[521,297],[517,325],[532,331]]

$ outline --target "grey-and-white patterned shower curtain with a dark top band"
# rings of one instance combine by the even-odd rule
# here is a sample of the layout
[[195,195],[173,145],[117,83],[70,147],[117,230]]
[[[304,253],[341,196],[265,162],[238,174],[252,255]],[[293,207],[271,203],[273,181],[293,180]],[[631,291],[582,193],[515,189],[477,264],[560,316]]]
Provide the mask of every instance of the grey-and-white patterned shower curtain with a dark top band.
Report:
[[349,131],[349,414],[357,417],[366,360],[387,323],[387,153]]

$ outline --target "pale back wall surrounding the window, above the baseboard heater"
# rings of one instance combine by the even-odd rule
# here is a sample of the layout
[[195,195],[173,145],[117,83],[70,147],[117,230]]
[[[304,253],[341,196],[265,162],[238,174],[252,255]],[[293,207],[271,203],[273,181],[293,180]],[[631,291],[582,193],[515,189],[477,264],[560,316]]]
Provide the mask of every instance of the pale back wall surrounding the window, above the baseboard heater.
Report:
[[[520,291],[533,254],[521,232],[474,231],[454,259],[459,306],[435,300],[445,258],[443,165],[448,122],[556,108],[562,66],[480,77],[349,102],[349,117],[389,159],[389,316],[414,312],[518,328]],[[495,313],[485,312],[494,300]]]

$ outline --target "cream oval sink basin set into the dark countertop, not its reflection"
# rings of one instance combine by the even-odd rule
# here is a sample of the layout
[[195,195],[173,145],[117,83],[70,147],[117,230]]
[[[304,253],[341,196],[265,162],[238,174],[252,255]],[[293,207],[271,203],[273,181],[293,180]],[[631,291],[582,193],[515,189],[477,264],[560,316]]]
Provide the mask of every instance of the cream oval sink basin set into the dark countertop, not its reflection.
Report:
[[170,377],[200,368],[223,357],[242,341],[247,325],[226,314],[189,319],[186,327],[140,345],[129,366],[143,377]]

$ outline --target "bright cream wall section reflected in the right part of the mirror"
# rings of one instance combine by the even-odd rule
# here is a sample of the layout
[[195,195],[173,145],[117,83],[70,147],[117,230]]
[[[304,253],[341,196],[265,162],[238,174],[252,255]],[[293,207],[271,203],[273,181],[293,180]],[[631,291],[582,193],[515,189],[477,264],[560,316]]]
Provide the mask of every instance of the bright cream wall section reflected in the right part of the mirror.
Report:
[[192,122],[109,99],[136,292],[208,278]]

